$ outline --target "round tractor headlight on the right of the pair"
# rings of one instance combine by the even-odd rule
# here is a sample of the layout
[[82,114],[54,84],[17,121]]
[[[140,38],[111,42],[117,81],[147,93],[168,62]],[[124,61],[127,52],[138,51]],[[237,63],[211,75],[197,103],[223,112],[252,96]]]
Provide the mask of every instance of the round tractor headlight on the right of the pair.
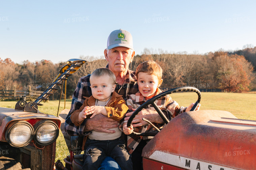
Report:
[[57,124],[49,120],[42,120],[38,122],[34,126],[34,129],[34,139],[36,143],[40,145],[49,145],[53,143],[59,135],[59,128]]

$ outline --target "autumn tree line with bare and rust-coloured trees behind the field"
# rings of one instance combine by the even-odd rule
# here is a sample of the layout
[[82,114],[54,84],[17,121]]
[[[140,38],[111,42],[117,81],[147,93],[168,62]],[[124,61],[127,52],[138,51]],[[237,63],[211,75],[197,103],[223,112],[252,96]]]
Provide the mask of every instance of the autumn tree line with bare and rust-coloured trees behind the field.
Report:
[[[78,79],[90,74],[99,67],[105,67],[104,58],[80,56],[87,62],[67,81],[67,98],[71,98]],[[223,92],[248,92],[256,89],[256,47],[245,48],[234,52],[209,52],[206,54],[168,53],[144,49],[143,54],[136,55],[129,69],[135,70],[139,63],[154,60],[163,69],[161,89],[171,89],[181,86],[193,86],[203,90],[221,90]],[[14,63],[9,58],[0,58],[0,90],[44,91],[58,75],[61,66],[49,60],[38,62],[24,61]],[[64,90],[63,90],[64,91]],[[53,99],[58,99],[60,91],[55,91]],[[50,99],[51,99],[50,98]]]

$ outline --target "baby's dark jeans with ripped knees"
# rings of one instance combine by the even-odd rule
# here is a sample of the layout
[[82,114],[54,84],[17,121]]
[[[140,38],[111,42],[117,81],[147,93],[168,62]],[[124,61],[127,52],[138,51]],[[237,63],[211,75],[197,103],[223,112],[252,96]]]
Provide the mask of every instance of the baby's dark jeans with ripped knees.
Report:
[[122,170],[132,169],[131,155],[127,152],[121,138],[114,140],[87,139],[85,147],[83,169],[98,169],[107,156],[116,160]]

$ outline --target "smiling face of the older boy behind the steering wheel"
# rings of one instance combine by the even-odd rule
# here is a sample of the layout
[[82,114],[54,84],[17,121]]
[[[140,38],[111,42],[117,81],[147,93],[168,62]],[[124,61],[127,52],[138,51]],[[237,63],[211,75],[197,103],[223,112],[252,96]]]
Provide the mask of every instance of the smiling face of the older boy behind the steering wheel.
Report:
[[143,97],[149,97],[156,93],[156,89],[162,84],[163,79],[158,80],[154,74],[149,75],[148,73],[138,73],[138,86],[139,92]]

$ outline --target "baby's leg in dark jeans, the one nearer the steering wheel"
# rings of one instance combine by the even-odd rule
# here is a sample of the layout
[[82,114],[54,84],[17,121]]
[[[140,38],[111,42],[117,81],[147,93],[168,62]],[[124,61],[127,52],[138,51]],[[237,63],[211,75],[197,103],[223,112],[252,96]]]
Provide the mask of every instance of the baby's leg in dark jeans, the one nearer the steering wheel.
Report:
[[117,161],[122,170],[131,170],[132,169],[132,160],[131,154],[126,150],[126,146],[122,139],[116,139],[115,144],[113,143],[113,149],[110,153],[110,156]]

